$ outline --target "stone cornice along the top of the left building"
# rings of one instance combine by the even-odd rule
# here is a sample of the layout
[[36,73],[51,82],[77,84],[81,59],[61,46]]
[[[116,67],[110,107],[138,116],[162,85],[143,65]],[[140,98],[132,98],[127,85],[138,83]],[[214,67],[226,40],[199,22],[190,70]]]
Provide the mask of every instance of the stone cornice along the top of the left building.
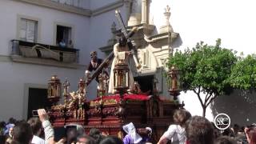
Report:
[[99,7],[96,10],[82,9],[79,7],[69,6],[69,5],[59,3],[59,2],[53,2],[50,0],[13,0],[13,1],[26,2],[29,4],[36,5],[36,6],[44,6],[44,7],[50,8],[50,9],[61,10],[61,11],[65,11],[65,12],[73,13],[73,14],[79,14],[79,15],[83,15],[86,17],[96,16],[98,14],[102,14],[107,11],[114,10],[114,9],[117,9],[118,7],[123,6],[123,0],[118,0],[117,2],[113,2],[106,6]]

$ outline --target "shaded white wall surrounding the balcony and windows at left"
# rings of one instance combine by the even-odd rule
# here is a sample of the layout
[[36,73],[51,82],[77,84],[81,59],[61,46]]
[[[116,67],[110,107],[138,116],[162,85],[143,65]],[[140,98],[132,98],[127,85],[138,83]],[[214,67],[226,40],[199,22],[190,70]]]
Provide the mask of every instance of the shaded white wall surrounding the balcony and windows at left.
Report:
[[[10,40],[16,38],[18,14],[39,18],[41,25],[40,43],[54,44],[54,22],[74,26],[74,47],[80,49],[80,63],[87,64],[87,49],[89,45],[89,19],[77,14],[70,14],[42,6],[34,6],[23,2],[10,0],[0,1],[0,121],[10,117],[26,118],[26,101],[28,92],[26,84],[47,86],[53,74],[57,74],[62,82],[68,78],[70,90],[78,90],[79,78],[84,70],[66,69],[54,66],[40,66],[3,61],[2,55],[8,56],[11,51]],[[84,68],[85,69],[85,68]],[[25,108],[24,108],[25,106]],[[25,110],[24,110],[25,109]]]

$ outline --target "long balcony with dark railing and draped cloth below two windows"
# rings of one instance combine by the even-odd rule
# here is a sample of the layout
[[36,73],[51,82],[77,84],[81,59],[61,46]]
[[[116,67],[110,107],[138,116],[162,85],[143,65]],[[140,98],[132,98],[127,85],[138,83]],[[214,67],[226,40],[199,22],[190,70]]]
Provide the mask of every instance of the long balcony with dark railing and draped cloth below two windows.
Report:
[[[11,58],[14,62],[25,62],[38,65],[79,67],[79,50],[62,48],[41,43],[12,40]],[[68,64],[68,65],[67,65]]]

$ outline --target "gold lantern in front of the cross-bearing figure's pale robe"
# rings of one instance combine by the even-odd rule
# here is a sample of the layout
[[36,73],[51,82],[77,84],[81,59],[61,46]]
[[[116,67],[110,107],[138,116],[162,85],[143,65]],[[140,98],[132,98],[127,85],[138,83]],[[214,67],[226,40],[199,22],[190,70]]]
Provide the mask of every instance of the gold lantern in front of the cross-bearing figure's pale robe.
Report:
[[122,97],[130,87],[129,67],[125,62],[118,62],[114,66],[114,90]]

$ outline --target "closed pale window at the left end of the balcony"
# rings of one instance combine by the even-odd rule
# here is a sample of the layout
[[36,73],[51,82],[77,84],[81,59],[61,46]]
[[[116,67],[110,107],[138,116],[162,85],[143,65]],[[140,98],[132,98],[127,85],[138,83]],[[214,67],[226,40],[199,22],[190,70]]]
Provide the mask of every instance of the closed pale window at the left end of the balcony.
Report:
[[19,39],[26,42],[37,42],[38,21],[21,18]]

